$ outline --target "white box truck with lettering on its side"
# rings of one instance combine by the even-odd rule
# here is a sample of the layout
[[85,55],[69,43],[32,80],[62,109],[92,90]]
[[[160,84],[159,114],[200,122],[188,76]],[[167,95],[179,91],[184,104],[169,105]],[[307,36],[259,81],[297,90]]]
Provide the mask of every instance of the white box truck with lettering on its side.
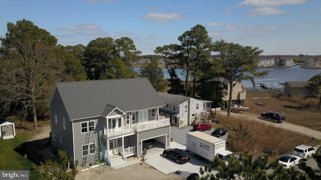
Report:
[[186,150],[194,153],[197,159],[203,157],[213,160],[218,156],[227,161],[228,156],[233,152],[226,150],[225,147],[226,140],[201,131],[188,132],[186,135]]

